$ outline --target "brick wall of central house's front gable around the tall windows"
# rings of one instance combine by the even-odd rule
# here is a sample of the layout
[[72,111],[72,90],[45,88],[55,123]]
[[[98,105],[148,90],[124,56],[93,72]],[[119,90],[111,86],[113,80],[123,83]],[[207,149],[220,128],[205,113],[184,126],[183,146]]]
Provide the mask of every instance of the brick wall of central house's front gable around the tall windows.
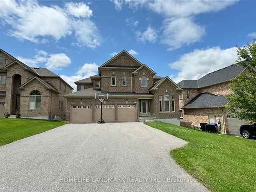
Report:
[[[170,110],[172,110],[172,96],[175,98],[175,112],[165,112],[164,109],[164,94],[167,92],[170,94]],[[164,119],[164,118],[180,118],[179,115],[179,98],[178,98],[178,91],[176,91],[176,87],[168,82],[167,80],[163,82],[160,86],[158,86],[157,90],[152,91],[154,94],[152,102],[152,116],[156,116],[157,118]],[[162,96],[162,111],[159,110],[159,98],[158,96]]]

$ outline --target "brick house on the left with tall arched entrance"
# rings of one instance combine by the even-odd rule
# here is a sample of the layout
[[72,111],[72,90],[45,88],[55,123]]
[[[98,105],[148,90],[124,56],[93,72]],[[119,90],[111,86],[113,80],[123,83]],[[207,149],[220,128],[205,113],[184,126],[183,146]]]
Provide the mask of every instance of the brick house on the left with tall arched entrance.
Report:
[[46,68],[31,68],[0,49],[0,116],[62,119],[73,88]]

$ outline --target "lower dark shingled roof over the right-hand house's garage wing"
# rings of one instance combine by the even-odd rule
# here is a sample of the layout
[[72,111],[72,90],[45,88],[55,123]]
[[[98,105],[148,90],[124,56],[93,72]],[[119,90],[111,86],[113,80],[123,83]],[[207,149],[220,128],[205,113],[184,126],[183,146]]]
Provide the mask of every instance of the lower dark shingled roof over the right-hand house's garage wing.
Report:
[[192,99],[188,104],[186,104],[183,108],[218,108],[223,107],[228,103],[228,99],[221,95],[214,95],[210,93],[201,93]]

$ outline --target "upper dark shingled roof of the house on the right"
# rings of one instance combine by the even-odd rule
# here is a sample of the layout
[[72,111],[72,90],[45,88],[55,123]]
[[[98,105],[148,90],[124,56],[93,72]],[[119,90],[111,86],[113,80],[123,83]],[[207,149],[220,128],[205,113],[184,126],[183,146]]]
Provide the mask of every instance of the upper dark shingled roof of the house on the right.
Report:
[[181,88],[202,88],[236,78],[244,67],[238,64],[233,64],[225,68],[210,72],[198,80],[182,80],[178,83]]

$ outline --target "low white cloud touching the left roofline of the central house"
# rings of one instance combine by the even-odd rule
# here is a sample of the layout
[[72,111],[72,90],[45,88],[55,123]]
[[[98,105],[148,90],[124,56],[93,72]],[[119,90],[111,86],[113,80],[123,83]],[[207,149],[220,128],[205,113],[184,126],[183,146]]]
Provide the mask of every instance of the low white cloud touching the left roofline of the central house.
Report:
[[74,82],[88,78],[90,76],[98,74],[98,65],[95,63],[85,63],[77,72],[76,75],[66,76],[60,75],[68,84],[70,84],[74,88],[74,92],[76,92],[76,84]]

